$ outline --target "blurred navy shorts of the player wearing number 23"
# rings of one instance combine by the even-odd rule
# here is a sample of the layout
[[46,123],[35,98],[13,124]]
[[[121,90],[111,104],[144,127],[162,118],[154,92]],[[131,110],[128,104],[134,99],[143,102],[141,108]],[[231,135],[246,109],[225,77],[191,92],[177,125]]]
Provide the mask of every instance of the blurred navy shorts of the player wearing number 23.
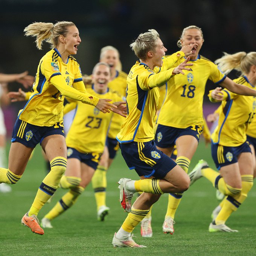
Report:
[[85,165],[90,166],[94,170],[97,169],[99,160],[101,159],[101,155],[99,153],[91,152],[91,153],[80,153],[75,148],[67,147],[67,159],[69,158],[77,158],[81,163],[85,163]]

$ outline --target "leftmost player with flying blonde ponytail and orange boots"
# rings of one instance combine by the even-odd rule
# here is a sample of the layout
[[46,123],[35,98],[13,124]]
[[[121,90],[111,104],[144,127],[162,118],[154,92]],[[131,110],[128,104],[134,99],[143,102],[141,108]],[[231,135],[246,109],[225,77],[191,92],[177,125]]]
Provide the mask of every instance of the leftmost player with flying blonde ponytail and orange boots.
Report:
[[[40,185],[30,210],[21,223],[32,232],[44,234],[37,215],[58,187],[67,165],[67,147],[63,133],[63,96],[93,105],[103,113],[116,108],[109,99],[87,93],[82,82],[76,54],[81,43],[74,23],[36,22],[27,26],[25,35],[36,37],[37,48],[44,40],[53,47],[41,58],[32,90],[25,107],[20,110],[12,133],[8,169],[0,168],[0,183],[15,184],[20,180],[30,154],[40,143],[50,161],[51,171]],[[73,87],[71,87],[73,85]]]

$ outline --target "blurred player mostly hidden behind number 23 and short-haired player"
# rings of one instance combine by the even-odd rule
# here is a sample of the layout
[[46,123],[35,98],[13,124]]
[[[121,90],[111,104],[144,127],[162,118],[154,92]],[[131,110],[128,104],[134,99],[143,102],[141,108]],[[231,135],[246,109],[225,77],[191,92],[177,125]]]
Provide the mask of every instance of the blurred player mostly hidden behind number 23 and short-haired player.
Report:
[[[125,98],[127,74],[120,70],[121,62],[118,50],[113,46],[103,47],[101,49],[100,61],[106,62],[110,65],[111,79],[108,83],[108,88],[116,91],[120,96]],[[104,221],[105,216],[109,211],[109,207],[106,206],[107,170],[112,164],[116,156],[116,152],[119,149],[116,135],[119,133],[124,121],[124,117],[119,114],[113,114],[106,139],[106,146],[101,156],[98,168],[91,180],[97,204],[97,217],[99,221]]]

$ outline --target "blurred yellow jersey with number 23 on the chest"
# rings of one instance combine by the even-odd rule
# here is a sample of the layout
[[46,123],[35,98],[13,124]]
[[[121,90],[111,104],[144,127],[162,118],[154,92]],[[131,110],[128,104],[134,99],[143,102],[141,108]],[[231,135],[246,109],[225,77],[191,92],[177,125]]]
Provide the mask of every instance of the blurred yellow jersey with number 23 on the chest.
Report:
[[[107,93],[99,94],[93,90],[92,85],[87,91],[101,99],[120,101],[120,96],[110,89]],[[81,153],[102,153],[113,112],[104,114],[91,105],[76,103],[76,113],[66,136],[67,146]]]

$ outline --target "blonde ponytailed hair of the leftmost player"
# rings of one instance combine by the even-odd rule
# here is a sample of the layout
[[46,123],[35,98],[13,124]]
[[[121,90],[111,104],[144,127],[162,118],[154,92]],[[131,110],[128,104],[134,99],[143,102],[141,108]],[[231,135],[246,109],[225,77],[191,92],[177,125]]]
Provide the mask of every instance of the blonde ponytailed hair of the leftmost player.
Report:
[[59,44],[59,36],[67,36],[70,26],[75,26],[70,21],[58,21],[57,23],[34,22],[25,27],[25,35],[36,37],[35,43],[37,48],[42,49],[43,41],[46,41],[52,48],[57,47]]

